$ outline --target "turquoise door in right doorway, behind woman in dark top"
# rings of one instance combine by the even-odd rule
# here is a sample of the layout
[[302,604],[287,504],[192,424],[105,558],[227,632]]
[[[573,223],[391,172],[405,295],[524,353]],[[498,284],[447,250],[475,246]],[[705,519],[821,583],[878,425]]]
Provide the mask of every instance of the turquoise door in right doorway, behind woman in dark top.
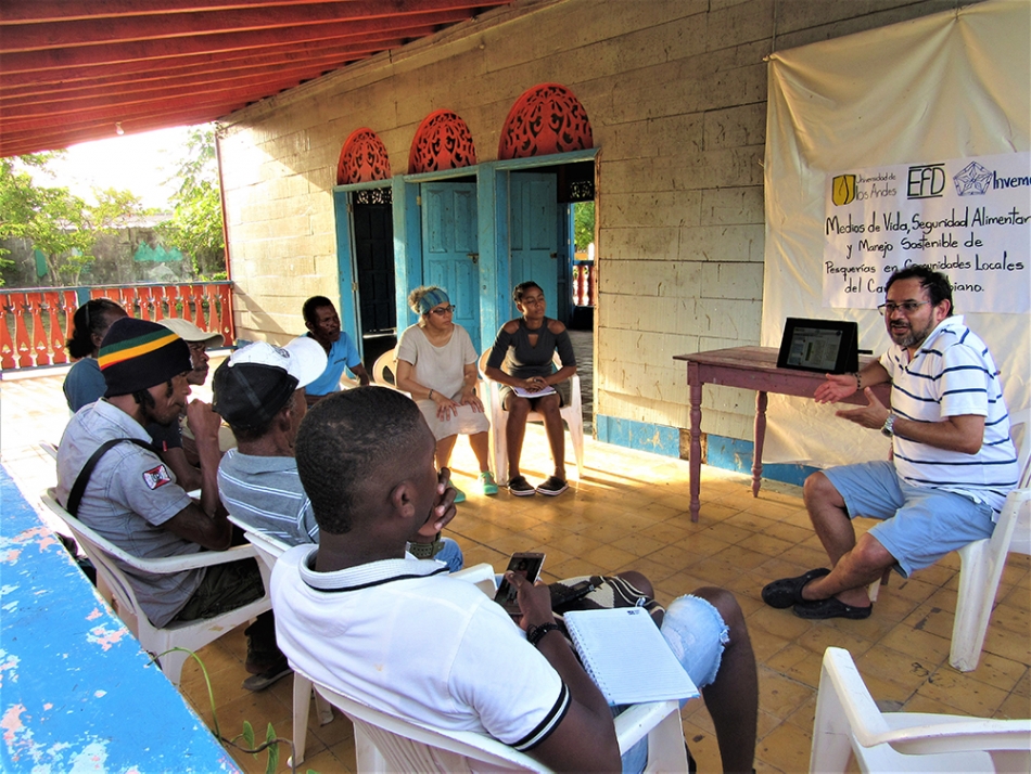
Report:
[[[548,302],[547,315],[559,318],[558,204],[555,175],[512,172],[509,181],[511,212],[512,286],[532,280]],[[511,294],[511,288],[509,288]],[[511,295],[509,295],[511,298]],[[510,302],[511,317],[519,317]]]

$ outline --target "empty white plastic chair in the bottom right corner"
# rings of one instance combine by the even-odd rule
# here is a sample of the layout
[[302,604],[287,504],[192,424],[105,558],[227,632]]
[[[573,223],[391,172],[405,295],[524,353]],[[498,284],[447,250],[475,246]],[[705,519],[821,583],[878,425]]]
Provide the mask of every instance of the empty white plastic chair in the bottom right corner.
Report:
[[1028,772],[1031,720],[881,712],[842,648],[829,647],[816,696],[810,772]]

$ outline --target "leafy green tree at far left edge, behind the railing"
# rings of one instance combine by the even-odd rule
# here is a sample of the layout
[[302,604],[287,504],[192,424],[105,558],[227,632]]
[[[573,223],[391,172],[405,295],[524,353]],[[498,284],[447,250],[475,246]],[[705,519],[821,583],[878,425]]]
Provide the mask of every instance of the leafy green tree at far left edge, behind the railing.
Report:
[[[145,210],[128,191],[94,191],[90,205],[66,188],[39,185],[29,169],[49,171],[60,153],[0,159],[0,237],[28,240],[47,259],[53,285],[78,285],[93,263],[101,234],[113,233]],[[10,262],[10,261],[8,261]]]

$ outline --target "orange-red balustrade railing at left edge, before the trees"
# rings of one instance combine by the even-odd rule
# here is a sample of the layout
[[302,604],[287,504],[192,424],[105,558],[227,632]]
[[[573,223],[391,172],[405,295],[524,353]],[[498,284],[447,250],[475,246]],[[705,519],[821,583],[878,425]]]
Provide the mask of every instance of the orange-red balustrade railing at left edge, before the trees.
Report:
[[142,320],[182,318],[233,340],[232,282],[0,288],[0,367],[71,362],[65,341],[72,317],[90,298],[110,298]]

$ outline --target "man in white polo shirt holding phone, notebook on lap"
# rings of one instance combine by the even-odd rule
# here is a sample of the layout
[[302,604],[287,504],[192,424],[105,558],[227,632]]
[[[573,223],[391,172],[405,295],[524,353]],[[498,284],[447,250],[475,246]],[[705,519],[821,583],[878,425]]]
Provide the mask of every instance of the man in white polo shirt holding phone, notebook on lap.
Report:
[[[437,533],[455,515],[434,449],[419,409],[395,390],[359,387],[309,411],[296,459],[320,544],[276,563],[280,646],[296,669],[383,711],[489,734],[557,771],[620,771],[612,711],[556,631],[548,586],[509,575],[517,625],[442,563],[406,553],[408,541]],[[699,669],[685,669],[703,686],[724,767],[749,771],[758,699],[743,616],[722,590],[696,594],[670,607],[661,630],[675,654],[698,657]],[[700,625],[674,634],[666,621],[678,618],[678,603]],[[640,771],[647,745],[635,751],[637,760],[623,763]]]

